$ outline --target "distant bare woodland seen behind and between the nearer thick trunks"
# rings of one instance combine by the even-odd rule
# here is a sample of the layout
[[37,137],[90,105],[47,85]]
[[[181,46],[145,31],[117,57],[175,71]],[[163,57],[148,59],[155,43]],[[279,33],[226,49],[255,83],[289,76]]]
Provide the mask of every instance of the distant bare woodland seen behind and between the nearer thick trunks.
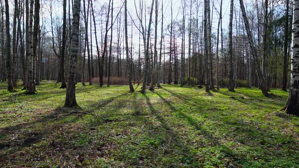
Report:
[[[145,68],[144,43],[147,36],[148,15],[151,2],[129,3],[128,43],[130,71],[132,81],[139,83],[143,79]],[[167,1],[158,4],[157,56],[154,51],[155,17],[152,18],[149,45],[148,74],[156,69],[161,76],[155,80],[163,83],[183,83],[202,85],[205,83],[204,69],[204,15],[201,1]],[[290,33],[292,18],[290,1],[246,1],[246,12],[257,59],[270,88],[288,86]],[[12,30],[12,69],[13,81],[25,79],[28,66],[26,41],[26,2],[16,1],[10,4],[10,26]],[[71,36],[71,16],[73,3],[42,1],[40,21],[37,30],[36,57],[34,67],[36,84],[40,80],[64,82],[68,75],[68,59]],[[85,5],[85,6],[84,6]],[[235,87],[258,87],[254,61],[251,56],[239,3],[233,7],[232,58],[229,54],[229,5],[228,1],[210,2],[211,54],[209,57],[210,85],[226,87],[229,81],[230,59],[232,59]],[[99,78],[109,84],[126,83],[126,50],[124,4],[122,2],[91,2],[81,4],[82,12],[79,28],[79,54],[76,81],[99,83]],[[286,6],[288,7],[286,9]],[[17,8],[14,8],[17,7]],[[83,10],[85,7],[85,12]],[[223,8],[223,9],[222,9]],[[2,50],[0,77],[4,81],[8,76],[5,53],[6,26],[5,6],[2,4]],[[66,12],[65,20],[63,11]],[[267,10],[266,10],[267,9]],[[35,16],[35,15],[34,15]],[[65,23],[64,23],[65,21]],[[65,34],[63,37],[63,23]],[[143,28],[142,28],[143,27]],[[154,27],[154,28],[153,28]],[[66,61],[65,61],[66,60]],[[101,64],[102,63],[102,64]],[[101,65],[99,65],[101,64]],[[102,73],[99,73],[99,71]],[[103,77],[100,77],[103,76]],[[109,76],[109,77],[108,77]],[[150,82],[147,75],[146,81]],[[182,82],[181,82],[182,81]],[[14,84],[15,85],[15,84]],[[101,84],[103,85],[103,84]]]

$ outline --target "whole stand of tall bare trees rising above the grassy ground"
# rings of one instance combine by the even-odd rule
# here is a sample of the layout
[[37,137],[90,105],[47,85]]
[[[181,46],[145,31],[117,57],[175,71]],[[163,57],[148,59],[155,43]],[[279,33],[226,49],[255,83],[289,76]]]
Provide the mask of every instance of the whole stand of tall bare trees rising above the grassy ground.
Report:
[[161,83],[206,92],[258,87],[266,97],[290,88],[285,109],[298,114],[297,1],[129,3],[1,1],[0,78],[9,91],[22,80],[27,94],[56,80],[70,107],[79,82],[131,92],[142,83],[141,93]]

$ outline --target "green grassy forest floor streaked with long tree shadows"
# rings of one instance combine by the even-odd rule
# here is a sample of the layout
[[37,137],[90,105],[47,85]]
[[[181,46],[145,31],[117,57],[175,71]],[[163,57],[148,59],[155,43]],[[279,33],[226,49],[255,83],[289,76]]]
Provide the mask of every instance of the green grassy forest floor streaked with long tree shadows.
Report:
[[299,167],[299,117],[256,89],[77,85],[42,82],[36,95],[0,82],[0,167]]

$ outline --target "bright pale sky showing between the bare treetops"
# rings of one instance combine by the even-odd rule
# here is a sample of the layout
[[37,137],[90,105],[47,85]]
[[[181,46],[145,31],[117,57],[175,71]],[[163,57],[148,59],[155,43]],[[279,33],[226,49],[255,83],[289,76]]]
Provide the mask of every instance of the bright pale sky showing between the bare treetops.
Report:
[[[120,10],[120,7],[122,6],[124,0],[114,0],[114,16],[117,15],[118,11]],[[139,4],[139,0],[135,0],[136,1],[136,5],[137,5],[137,9],[138,9],[138,4]],[[141,0],[140,0],[141,1]],[[149,7],[151,7],[151,3],[152,0],[143,0],[146,3],[146,7],[147,9],[147,15],[146,15],[146,19],[147,19],[147,23],[148,24],[148,19],[149,19]],[[170,1],[171,0],[164,0],[164,28],[170,23],[171,21],[171,11],[170,11]],[[251,2],[252,0],[245,0],[245,6],[247,3]],[[193,0],[193,16],[196,18],[196,1]],[[239,9],[239,1],[234,1],[235,2],[235,6],[237,9]],[[51,30],[50,27],[50,15],[49,15],[49,4],[53,3],[53,18],[55,18],[55,16],[57,17],[62,17],[62,0],[54,0],[54,1],[47,1],[47,0],[42,0],[42,4],[43,4],[43,17],[45,20],[45,28],[47,29],[47,31]],[[98,38],[100,38],[100,26],[98,25],[100,23],[100,16],[99,16],[99,11],[100,11],[100,7],[105,4],[105,3],[109,3],[109,0],[93,0],[93,5],[94,5],[94,11],[96,13],[96,24],[97,24],[97,36]],[[182,8],[181,8],[181,0],[172,0],[173,3],[173,16],[174,18],[176,18],[177,20],[180,20],[182,18]],[[199,0],[199,15],[198,15],[198,19],[199,22],[201,22],[202,20],[202,10],[203,10],[203,1]],[[212,8],[212,4],[214,3],[214,8]],[[228,29],[228,25],[229,25],[229,15],[230,15],[230,0],[223,0],[222,2],[222,14],[223,14],[223,19],[222,19],[222,26],[223,26],[223,31],[226,32],[226,30]],[[83,5],[83,0],[81,0],[81,4]],[[86,3],[87,4],[87,3]],[[212,33],[217,31],[217,22],[218,22],[218,10],[219,8],[219,4],[220,4],[220,0],[211,0],[210,2],[211,4],[211,19],[212,19]],[[162,1],[159,0],[159,23],[158,23],[158,38],[161,37],[161,5],[162,5]],[[190,1],[186,0],[186,28],[188,28],[188,22],[189,22],[189,18],[190,18]],[[155,6],[154,6],[155,8]],[[215,8],[217,10],[215,10]],[[83,9],[83,8],[82,8]],[[139,10],[139,9],[138,9]],[[130,15],[132,16],[135,24],[138,26],[139,21],[137,20],[136,17],[136,11],[135,11],[135,6],[134,6],[134,0],[128,0],[128,11],[130,13]],[[82,16],[82,15],[81,15]],[[155,10],[153,13],[153,21],[155,18]],[[103,20],[105,20],[104,17],[102,17]],[[90,21],[90,20],[89,20]],[[128,33],[129,33],[129,38],[131,37],[131,18],[130,16],[128,16]],[[114,25],[116,28],[116,24]],[[144,25],[145,26],[145,25]],[[147,26],[147,25],[146,25]],[[152,24],[152,28],[154,30],[154,25]],[[90,30],[90,28],[88,28]],[[92,31],[94,32],[94,27],[92,25]],[[116,29],[114,30],[114,36],[113,36],[113,41],[117,41],[117,33],[116,33]],[[136,52],[138,49],[138,41],[139,41],[139,36],[138,36],[138,29],[133,25],[133,48],[134,51]],[[110,33],[108,33],[110,34]],[[51,34],[49,34],[51,35]],[[154,37],[154,32],[152,32],[152,37]],[[186,34],[187,35],[187,34]],[[181,37],[180,37],[181,38]],[[177,39],[177,43],[180,43],[180,38]],[[186,36],[186,40],[188,39],[188,36]],[[99,40],[100,41],[100,40]],[[92,37],[92,43],[93,46],[95,46],[95,39],[94,39],[94,34]],[[129,44],[131,43],[131,38],[129,39]],[[142,45],[141,45],[142,46]],[[142,49],[141,49],[142,50]],[[96,49],[95,47],[93,48],[93,53],[96,53]]]

